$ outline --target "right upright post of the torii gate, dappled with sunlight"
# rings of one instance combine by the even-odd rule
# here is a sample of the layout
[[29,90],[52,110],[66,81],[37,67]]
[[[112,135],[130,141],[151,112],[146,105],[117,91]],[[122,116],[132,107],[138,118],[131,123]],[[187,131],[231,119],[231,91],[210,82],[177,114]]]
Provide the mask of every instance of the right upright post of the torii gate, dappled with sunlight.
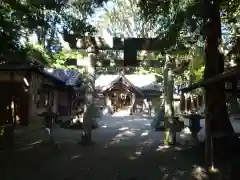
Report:
[[176,132],[173,127],[173,73],[169,68],[169,57],[166,55],[166,61],[164,65],[164,114],[165,114],[165,144],[176,143]]

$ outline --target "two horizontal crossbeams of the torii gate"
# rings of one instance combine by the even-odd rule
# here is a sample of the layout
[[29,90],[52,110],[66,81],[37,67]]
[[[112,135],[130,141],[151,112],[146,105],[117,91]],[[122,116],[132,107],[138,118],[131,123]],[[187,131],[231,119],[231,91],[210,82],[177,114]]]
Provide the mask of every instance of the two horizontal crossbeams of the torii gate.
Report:
[[[93,51],[99,50],[123,50],[124,59],[114,60],[118,67],[162,67],[163,63],[156,60],[138,60],[137,53],[139,50],[149,50],[149,51],[159,51],[158,46],[160,40],[156,38],[112,38],[112,43],[108,44],[101,37],[84,36],[81,38],[75,35],[64,35],[64,40],[69,42],[69,44],[75,43],[76,45],[71,45],[71,48],[78,50],[85,50],[88,47],[92,47]],[[108,67],[110,66],[111,60],[104,60],[98,67]],[[68,62],[68,64],[76,65],[76,62]]]

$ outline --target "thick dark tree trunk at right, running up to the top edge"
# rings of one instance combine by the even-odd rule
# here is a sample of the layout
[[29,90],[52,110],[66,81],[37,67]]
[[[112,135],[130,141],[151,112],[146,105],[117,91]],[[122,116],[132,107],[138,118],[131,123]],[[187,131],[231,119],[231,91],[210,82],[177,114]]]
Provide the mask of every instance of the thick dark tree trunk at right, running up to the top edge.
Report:
[[[207,1],[207,0],[206,0]],[[224,71],[224,57],[219,51],[221,40],[221,21],[219,4],[213,1],[213,4],[207,1],[208,7],[211,7],[209,15],[206,18],[208,22],[207,39],[205,44],[206,64],[204,79],[208,79]],[[233,133],[231,122],[228,118],[228,112],[225,103],[224,82],[211,84],[205,87],[206,97],[206,160],[211,165],[211,147],[214,154],[223,154],[222,150],[231,147],[233,141],[238,142],[237,137],[227,137],[226,134]],[[222,134],[224,137],[214,138],[212,135]],[[233,141],[232,141],[233,140]],[[211,144],[211,142],[213,142]],[[226,151],[225,151],[226,152]]]

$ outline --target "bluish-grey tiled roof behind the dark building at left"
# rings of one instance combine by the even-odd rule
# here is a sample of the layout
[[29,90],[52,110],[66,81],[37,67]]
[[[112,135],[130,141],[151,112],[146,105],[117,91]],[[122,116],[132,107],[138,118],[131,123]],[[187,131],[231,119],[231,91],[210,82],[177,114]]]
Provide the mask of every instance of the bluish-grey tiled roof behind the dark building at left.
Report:
[[75,86],[80,79],[80,73],[71,69],[45,68],[46,73],[63,81],[67,86]]

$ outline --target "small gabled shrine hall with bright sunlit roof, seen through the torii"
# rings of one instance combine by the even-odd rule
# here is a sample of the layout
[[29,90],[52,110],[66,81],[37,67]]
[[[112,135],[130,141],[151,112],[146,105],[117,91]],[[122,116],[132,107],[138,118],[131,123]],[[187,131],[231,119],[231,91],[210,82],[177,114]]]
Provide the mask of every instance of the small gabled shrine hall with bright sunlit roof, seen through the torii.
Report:
[[[119,108],[142,107],[144,99],[159,100],[161,85],[148,75],[100,75],[96,80],[99,101]],[[110,80],[110,81],[108,81]],[[146,81],[145,81],[146,80]],[[108,81],[108,82],[107,82]],[[139,82],[140,81],[140,82]],[[142,83],[141,81],[145,81]],[[144,85],[145,84],[145,85]]]

